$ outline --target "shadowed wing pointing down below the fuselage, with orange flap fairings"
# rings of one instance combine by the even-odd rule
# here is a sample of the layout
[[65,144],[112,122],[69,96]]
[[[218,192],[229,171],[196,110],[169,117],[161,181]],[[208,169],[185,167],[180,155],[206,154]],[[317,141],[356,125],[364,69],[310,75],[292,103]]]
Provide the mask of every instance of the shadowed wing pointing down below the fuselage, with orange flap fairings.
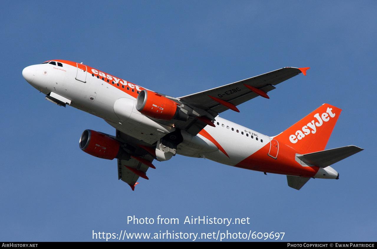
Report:
[[149,168],[156,169],[152,164],[154,156],[152,150],[144,145],[138,145],[130,137],[119,130],[116,130],[116,138],[123,142],[124,150],[130,154],[130,159],[118,159],[118,179],[126,182],[132,190],[135,190],[135,185],[139,177],[148,179],[146,173]]

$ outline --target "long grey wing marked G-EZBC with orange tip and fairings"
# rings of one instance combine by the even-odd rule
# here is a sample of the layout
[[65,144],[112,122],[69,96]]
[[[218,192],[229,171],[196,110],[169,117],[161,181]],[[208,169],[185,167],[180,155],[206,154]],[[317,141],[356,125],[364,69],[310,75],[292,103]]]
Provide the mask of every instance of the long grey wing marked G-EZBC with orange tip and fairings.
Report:
[[211,125],[210,122],[214,121],[219,113],[228,109],[238,111],[237,105],[257,96],[268,98],[266,93],[275,89],[275,85],[300,73],[306,75],[308,69],[285,67],[222,87],[179,97],[179,102],[193,107],[196,115],[201,117],[190,116],[187,121],[177,121],[175,125],[192,135],[197,135],[206,125]]

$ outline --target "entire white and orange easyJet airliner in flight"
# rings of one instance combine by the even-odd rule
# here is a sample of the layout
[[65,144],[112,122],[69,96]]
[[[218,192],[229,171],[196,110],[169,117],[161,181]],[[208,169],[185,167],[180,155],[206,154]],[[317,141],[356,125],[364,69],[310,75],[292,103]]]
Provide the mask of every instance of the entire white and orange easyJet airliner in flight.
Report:
[[171,97],[103,71],[67,60],[48,60],[22,71],[46,100],[104,119],[115,136],[85,130],[80,148],[98,158],[117,159],[118,179],[135,190],[139,177],[156,169],[153,159],[179,155],[210,159],[259,172],[287,175],[300,190],[310,178],[339,179],[330,165],[362,151],[355,145],[325,150],[341,109],[323,104],[277,136],[266,136],[218,115],[267,93],[277,84],[306,75],[309,68],[284,67],[232,84]]

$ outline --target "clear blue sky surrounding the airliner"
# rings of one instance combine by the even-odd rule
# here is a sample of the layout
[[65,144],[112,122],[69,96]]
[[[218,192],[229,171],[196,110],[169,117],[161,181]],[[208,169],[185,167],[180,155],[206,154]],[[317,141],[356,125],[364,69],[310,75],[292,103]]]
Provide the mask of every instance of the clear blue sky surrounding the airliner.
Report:
[[[375,1],[3,2],[0,241],[103,241],[92,239],[93,230],[251,230],[285,232],[282,241],[375,241],[376,7]],[[279,84],[270,99],[255,98],[238,106],[241,113],[221,117],[274,136],[328,103],[343,112],[326,148],[365,150],[332,165],[339,180],[311,179],[300,191],[284,175],[177,155],[154,162],[156,170],[133,192],[118,181],[115,160],[78,147],[86,129],[115,129],[46,101],[23,79],[23,68],[52,59],[83,62],[175,97],[282,67],[311,67],[307,76]],[[155,224],[127,224],[133,215]],[[158,215],[179,224],[156,224]],[[183,224],[186,216],[248,217],[250,224]]]

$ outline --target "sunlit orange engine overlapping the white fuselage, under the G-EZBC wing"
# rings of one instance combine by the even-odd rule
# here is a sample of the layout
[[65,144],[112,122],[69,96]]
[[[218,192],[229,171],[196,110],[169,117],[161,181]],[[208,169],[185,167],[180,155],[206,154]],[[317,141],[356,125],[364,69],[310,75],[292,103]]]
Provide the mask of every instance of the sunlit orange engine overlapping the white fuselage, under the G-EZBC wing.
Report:
[[136,99],[136,110],[148,117],[170,121],[187,121],[189,115],[181,111],[177,103],[149,90],[140,91]]

